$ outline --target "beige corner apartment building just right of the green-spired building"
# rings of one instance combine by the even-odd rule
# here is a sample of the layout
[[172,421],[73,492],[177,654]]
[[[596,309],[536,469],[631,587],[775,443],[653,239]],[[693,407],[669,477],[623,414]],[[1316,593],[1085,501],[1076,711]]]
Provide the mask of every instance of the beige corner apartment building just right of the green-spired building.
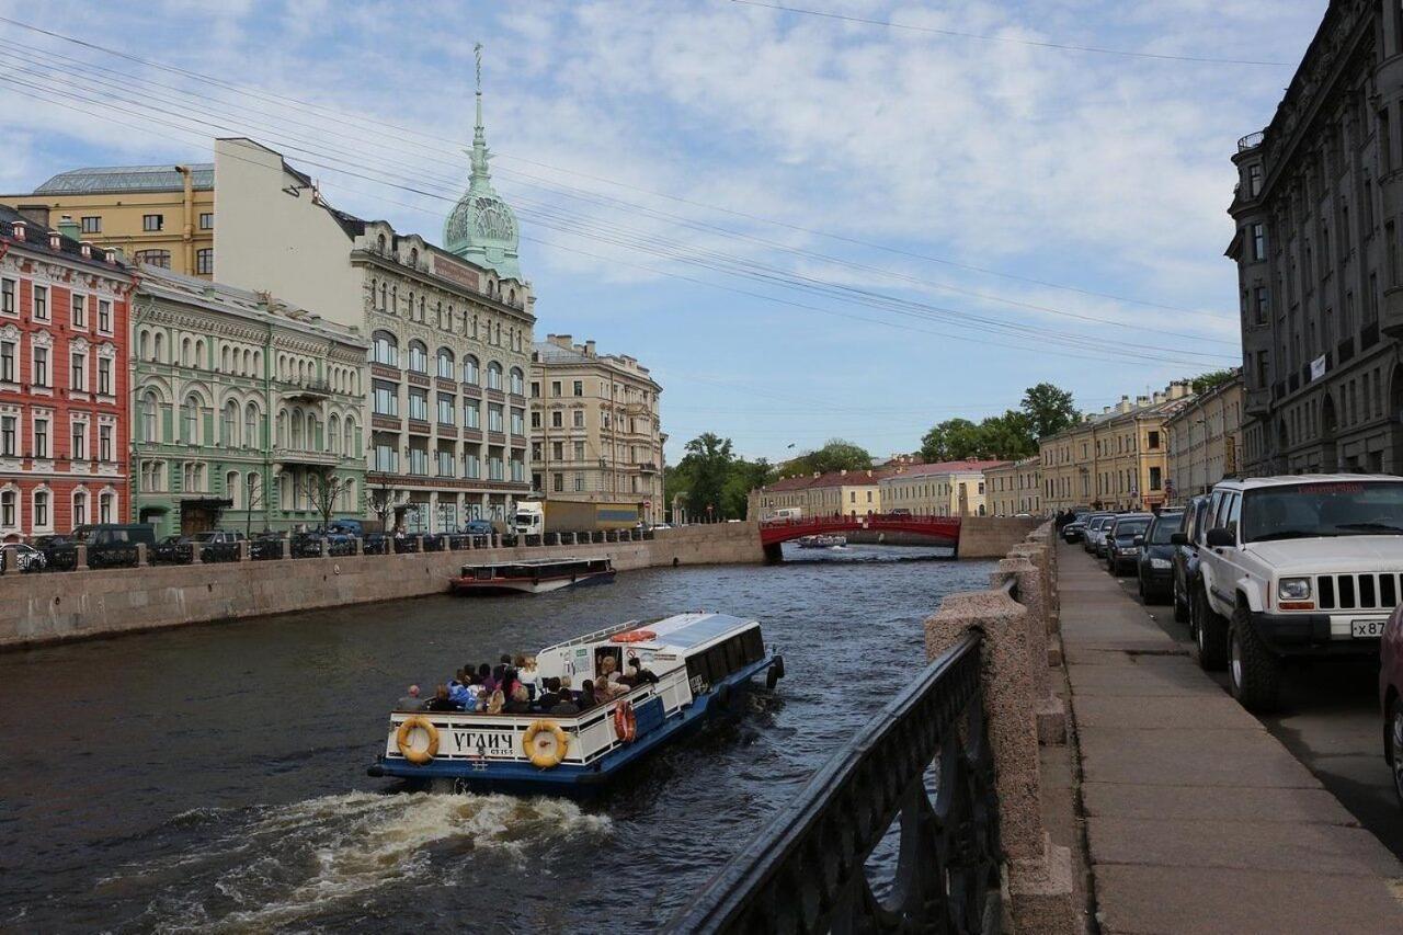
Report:
[[530,361],[532,487],[547,500],[636,503],[662,522],[662,387],[623,354],[568,334],[537,341]]

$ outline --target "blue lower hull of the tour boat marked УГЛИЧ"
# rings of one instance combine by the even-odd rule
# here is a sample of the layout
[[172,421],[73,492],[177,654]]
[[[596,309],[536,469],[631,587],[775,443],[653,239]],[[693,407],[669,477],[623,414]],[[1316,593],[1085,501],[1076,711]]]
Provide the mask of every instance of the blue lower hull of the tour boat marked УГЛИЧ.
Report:
[[666,717],[648,734],[591,764],[561,764],[551,769],[540,769],[519,761],[488,760],[473,764],[462,760],[443,760],[415,767],[405,760],[382,755],[366,772],[372,776],[394,776],[418,782],[431,789],[452,792],[509,792],[572,797],[598,795],[619,774],[637,765],[651,752],[710,720],[734,715],[737,699],[749,688],[751,679],[774,667],[783,672],[783,660],[774,653],[766,653],[763,658],[711,687],[711,691],[697,695],[689,706]]

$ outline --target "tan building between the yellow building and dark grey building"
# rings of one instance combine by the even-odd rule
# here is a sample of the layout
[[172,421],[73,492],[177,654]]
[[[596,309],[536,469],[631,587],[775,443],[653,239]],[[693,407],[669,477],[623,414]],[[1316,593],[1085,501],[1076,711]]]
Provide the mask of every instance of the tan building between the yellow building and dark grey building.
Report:
[[1169,503],[1212,490],[1242,470],[1243,383],[1232,380],[1186,400],[1164,420],[1169,439]]

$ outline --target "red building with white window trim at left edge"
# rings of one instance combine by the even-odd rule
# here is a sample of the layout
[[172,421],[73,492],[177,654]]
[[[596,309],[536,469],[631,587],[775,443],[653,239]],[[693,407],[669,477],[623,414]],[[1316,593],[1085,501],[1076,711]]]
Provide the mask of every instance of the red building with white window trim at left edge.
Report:
[[[70,226],[72,225],[72,226]],[[0,206],[0,541],[121,522],[133,277]]]

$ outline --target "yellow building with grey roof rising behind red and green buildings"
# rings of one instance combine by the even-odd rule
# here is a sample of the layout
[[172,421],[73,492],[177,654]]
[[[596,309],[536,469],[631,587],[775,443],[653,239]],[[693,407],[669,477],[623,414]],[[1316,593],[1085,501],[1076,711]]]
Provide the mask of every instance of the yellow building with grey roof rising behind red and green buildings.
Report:
[[72,220],[76,237],[128,258],[213,278],[215,166],[116,166],[59,173],[27,195],[0,195],[39,223]]

